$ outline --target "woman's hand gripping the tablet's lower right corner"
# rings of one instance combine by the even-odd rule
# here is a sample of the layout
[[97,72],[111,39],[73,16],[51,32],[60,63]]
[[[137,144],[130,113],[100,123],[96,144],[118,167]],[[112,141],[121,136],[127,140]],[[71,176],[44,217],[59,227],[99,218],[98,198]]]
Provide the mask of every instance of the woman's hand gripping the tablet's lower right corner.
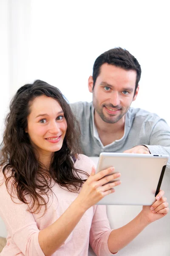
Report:
[[153,205],[143,206],[141,213],[148,223],[159,220],[169,212],[170,209],[168,207],[167,198],[163,195],[164,191],[160,190]]

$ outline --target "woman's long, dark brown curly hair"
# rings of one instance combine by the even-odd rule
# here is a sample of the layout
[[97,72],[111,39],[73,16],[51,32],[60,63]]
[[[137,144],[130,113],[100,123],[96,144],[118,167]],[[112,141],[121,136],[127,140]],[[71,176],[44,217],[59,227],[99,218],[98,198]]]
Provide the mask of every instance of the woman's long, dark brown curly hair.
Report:
[[[35,149],[26,133],[31,103],[36,97],[42,95],[57,100],[67,121],[62,148],[54,152],[48,170],[36,159]],[[8,189],[11,198],[12,191],[15,189],[20,201],[29,204],[29,211],[40,212],[42,205],[45,206],[45,211],[47,209],[48,192],[51,191],[52,180],[70,191],[79,190],[85,181],[81,179],[80,174],[86,173],[75,169],[72,159],[72,156],[77,156],[79,153],[79,128],[77,127],[79,127],[78,122],[57,87],[41,80],[20,87],[10,103],[0,152],[0,166],[6,178],[6,187],[8,182],[12,181],[10,192]],[[27,195],[30,198],[29,202],[26,199]]]

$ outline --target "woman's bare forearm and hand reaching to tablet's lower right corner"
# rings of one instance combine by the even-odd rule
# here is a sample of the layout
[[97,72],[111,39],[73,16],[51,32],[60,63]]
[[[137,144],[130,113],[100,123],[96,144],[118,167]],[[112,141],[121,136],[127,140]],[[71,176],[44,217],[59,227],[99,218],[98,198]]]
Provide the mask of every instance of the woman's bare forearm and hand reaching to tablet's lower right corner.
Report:
[[[112,230],[108,238],[108,248],[112,253],[125,247],[132,241],[141,231],[153,221],[164,217],[168,212],[167,198],[163,197],[164,191],[160,191],[156,198],[158,200],[150,207],[143,206],[142,211],[125,226]],[[153,209],[151,209],[153,208]],[[154,210],[154,212],[153,212]]]

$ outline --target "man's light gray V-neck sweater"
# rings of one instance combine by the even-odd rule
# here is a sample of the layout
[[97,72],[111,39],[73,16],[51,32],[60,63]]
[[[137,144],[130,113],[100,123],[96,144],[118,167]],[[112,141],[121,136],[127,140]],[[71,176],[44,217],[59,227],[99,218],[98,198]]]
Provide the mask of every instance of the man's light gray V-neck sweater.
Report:
[[125,133],[120,140],[103,146],[94,125],[92,102],[70,104],[81,129],[81,150],[90,157],[105,152],[123,152],[136,145],[146,145],[151,154],[170,155],[170,127],[155,113],[130,108],[125,115]]

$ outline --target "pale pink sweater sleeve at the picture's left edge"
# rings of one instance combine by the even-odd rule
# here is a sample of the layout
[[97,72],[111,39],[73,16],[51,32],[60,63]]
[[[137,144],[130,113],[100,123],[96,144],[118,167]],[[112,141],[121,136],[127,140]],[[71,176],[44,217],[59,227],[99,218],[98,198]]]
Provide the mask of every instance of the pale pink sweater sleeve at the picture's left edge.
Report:
[[[0,176],[2,177],[2,175]],[[12,194],[12,201],[5,182],[4,180],[2,182],[1,177],[0,216],[6,224],[8,238],[13,240],[12,243],[16,244],[18,254],[23,253],[24,256],[45,256],[38,241],[40,230],[37,227],[34,215],[27,211],[28,205],[22,203],[14,193]]]

